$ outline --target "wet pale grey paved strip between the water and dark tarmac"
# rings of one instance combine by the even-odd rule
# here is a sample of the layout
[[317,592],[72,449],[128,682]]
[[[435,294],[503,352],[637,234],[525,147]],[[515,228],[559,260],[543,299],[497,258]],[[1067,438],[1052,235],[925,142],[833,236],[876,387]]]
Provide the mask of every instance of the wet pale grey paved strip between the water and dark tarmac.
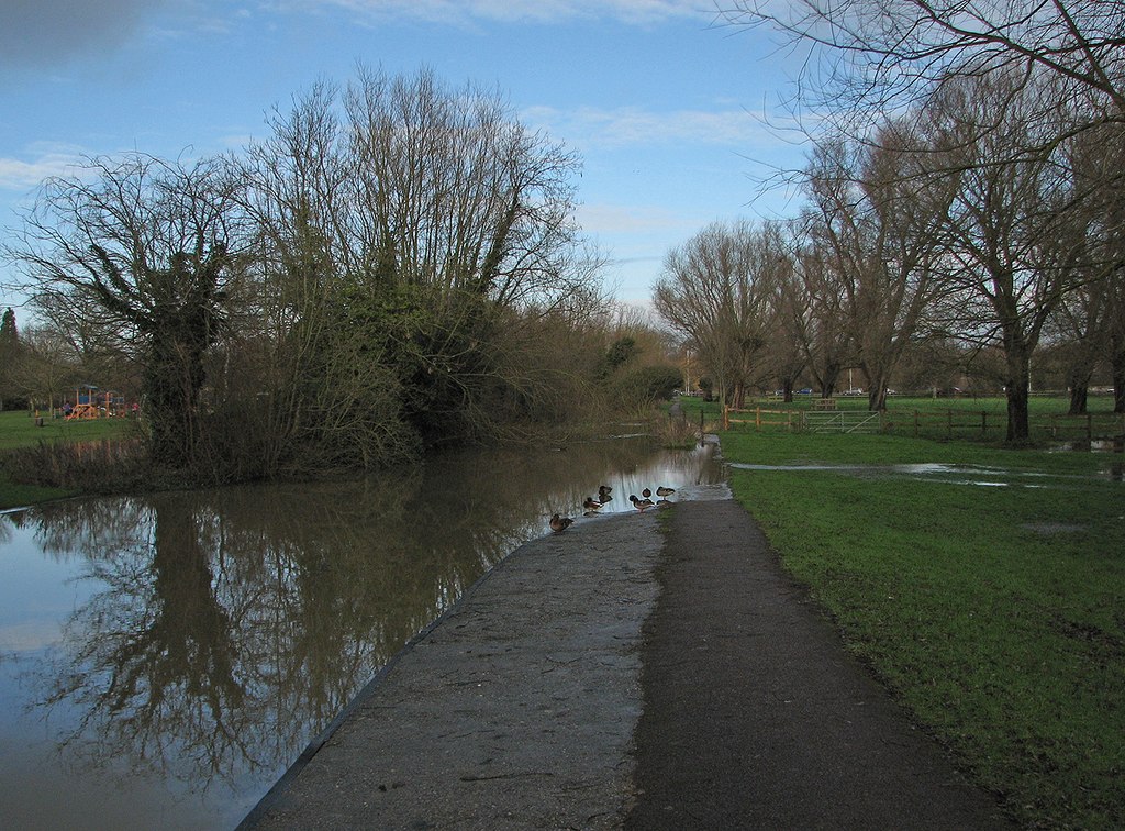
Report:
[[259,828],[620,828],[656,511],[519,548],[369,687]]

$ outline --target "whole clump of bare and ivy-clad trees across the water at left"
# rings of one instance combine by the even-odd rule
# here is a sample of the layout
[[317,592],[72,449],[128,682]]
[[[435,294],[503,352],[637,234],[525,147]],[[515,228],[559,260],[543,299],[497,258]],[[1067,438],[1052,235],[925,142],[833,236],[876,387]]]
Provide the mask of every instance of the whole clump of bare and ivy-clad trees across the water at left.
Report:
[[529,437],[678,385],[603,294],[577,158],[498,95],[361,69],[268,128],[43,185],[7,252],[40,321],[29,393],[66,390],[33,354],[76,359],[137,391],[154,463],[225,481]]

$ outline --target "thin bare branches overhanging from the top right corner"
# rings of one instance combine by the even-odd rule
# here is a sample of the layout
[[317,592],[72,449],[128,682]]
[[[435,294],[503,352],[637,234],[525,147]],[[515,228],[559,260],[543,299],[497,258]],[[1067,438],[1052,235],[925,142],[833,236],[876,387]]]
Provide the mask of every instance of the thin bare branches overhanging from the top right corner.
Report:
[[996,70],[1048,73],[1068,98],[1125,117],[1120,0],[717,0],[734,26],[762,26],[810,53],[802,100],[832,111],[885,113],[948,79]]

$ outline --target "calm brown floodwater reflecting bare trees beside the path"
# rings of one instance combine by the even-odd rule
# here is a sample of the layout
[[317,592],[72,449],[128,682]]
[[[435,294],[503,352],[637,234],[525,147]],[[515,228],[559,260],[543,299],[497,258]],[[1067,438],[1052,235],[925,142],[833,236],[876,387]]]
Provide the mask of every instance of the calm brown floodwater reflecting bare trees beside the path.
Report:
[[709,449],[621,439],[0,515],[3,824],[233,828],[550,513],[721,477]]

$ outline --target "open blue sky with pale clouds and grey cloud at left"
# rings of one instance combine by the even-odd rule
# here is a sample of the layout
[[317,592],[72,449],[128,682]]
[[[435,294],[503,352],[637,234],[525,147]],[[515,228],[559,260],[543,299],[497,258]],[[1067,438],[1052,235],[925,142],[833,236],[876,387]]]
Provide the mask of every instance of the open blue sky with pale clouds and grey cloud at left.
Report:
[[[237,151],[318,80],[430,69],[577,153],[606,285],[646,304],[706,224],[795,211],[760,187],[803,158],[780,128],[793,60],[714,0],[3,0],[0,236],[83,155]],[[17,279],[0,262],[0,305]]]

